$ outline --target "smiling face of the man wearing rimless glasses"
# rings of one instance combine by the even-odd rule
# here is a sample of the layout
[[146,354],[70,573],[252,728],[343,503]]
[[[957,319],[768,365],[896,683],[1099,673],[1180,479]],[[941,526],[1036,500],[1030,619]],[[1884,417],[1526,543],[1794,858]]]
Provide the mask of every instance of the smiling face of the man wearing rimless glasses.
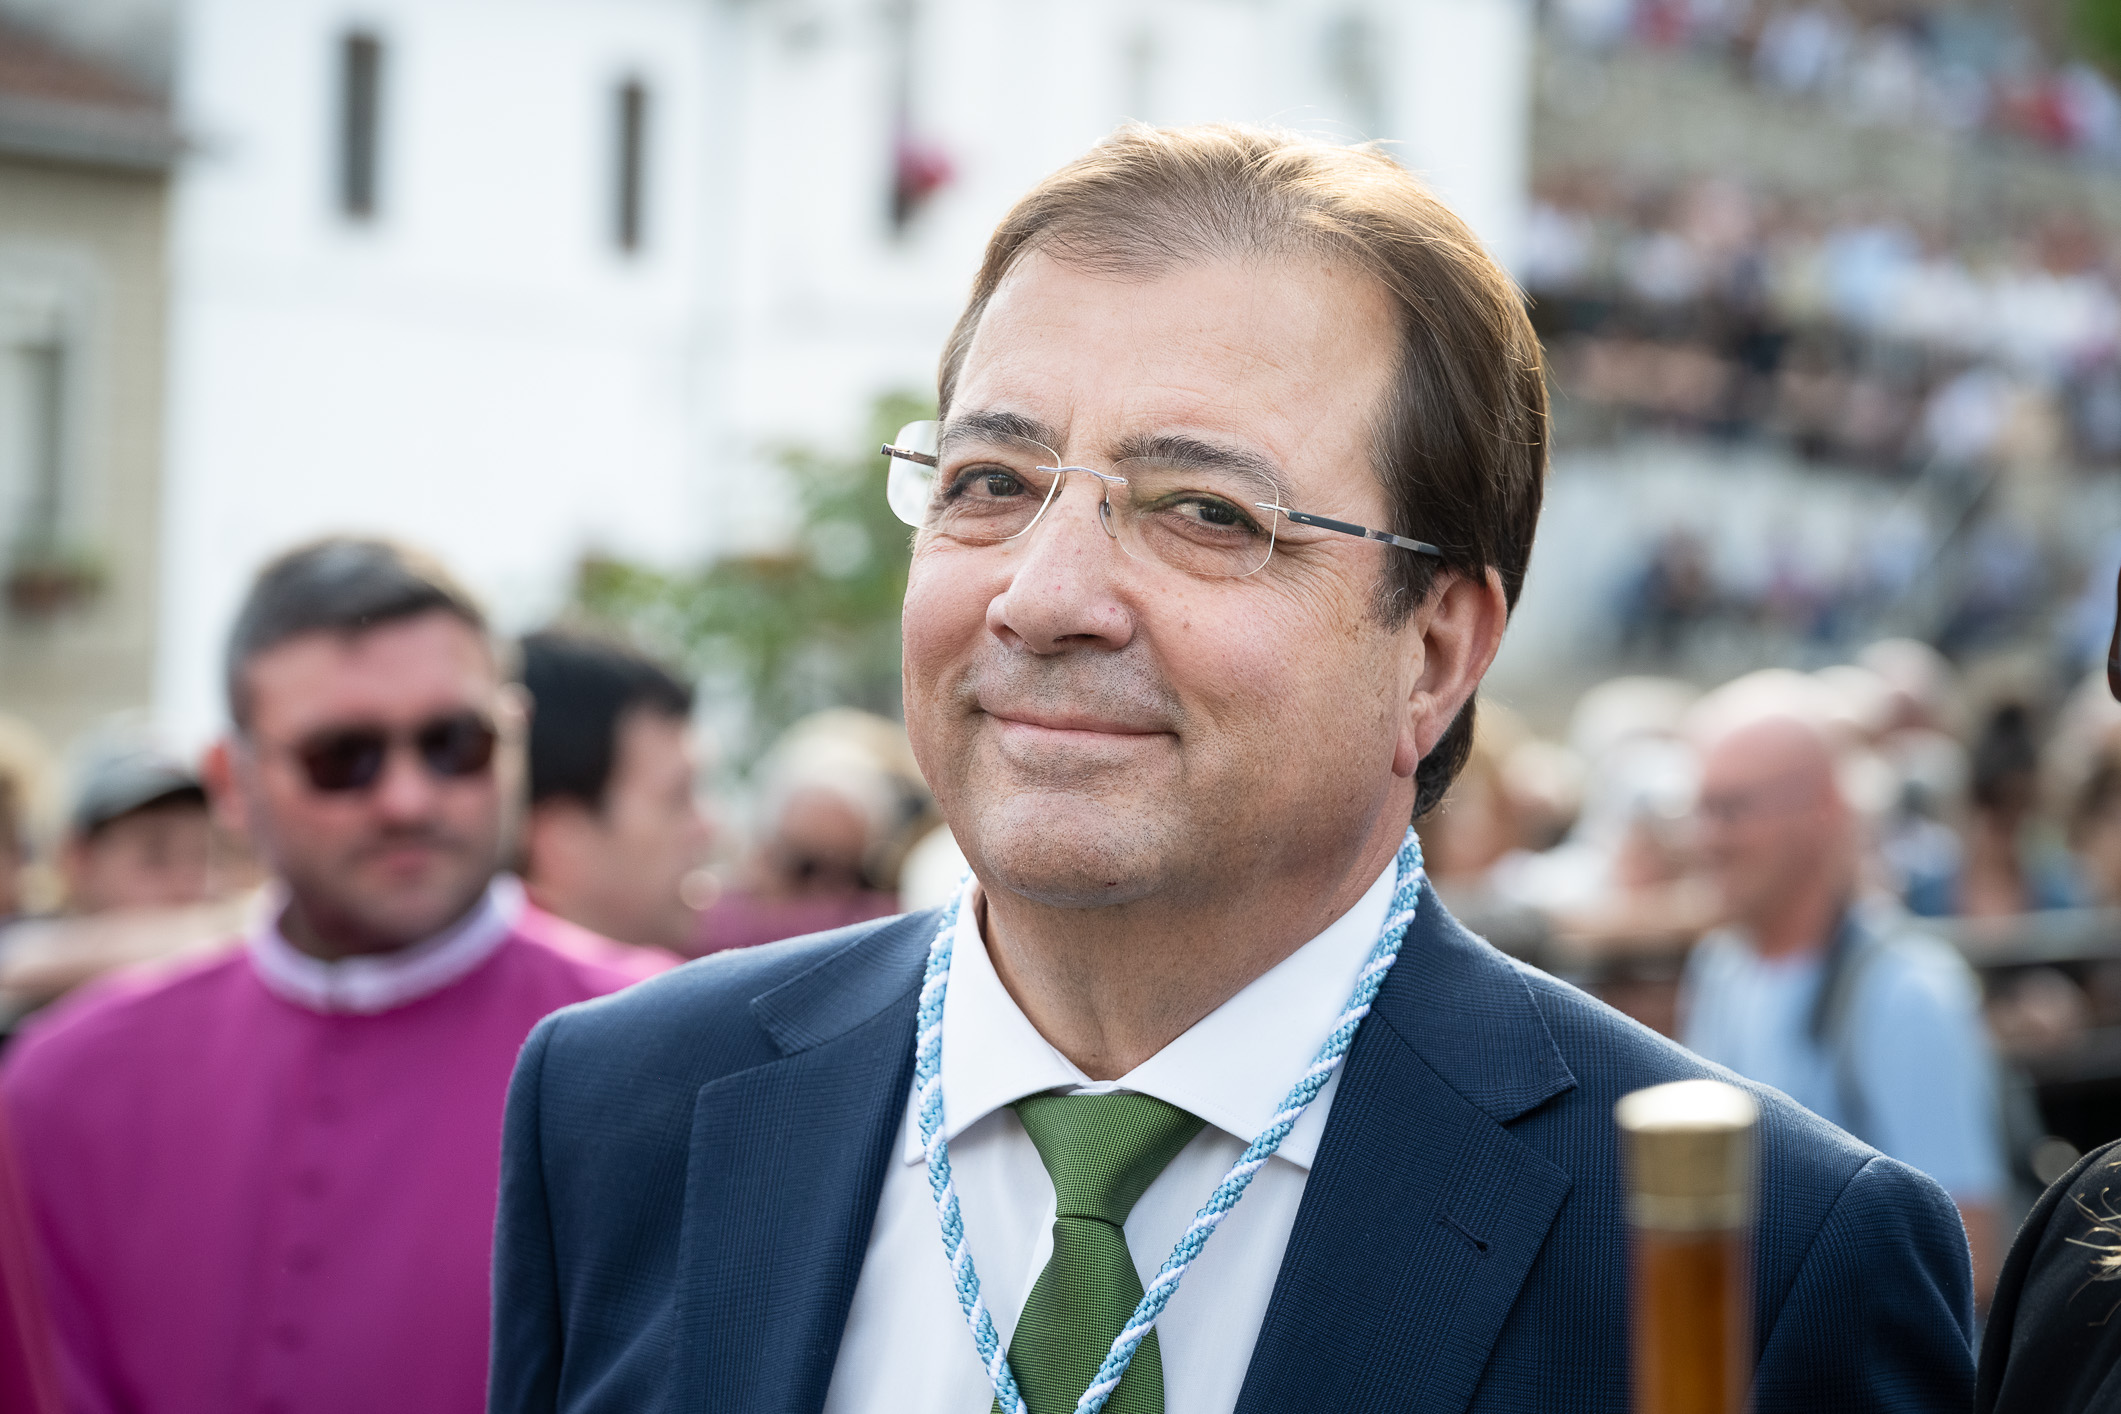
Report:
[[[1044,428],[1067,464],[1192,439],[1273,464],[1302,511],[1389,522],[1372,428],[1398,363],[1385,293],[1324,259],[1147,282],[1033,254],[965,356],[952,420]],[[906,589],[914,753],[991,886],[1058,905],[1213,890],[1398,839],[1393,753],[1421,638],[1374,615],[1381,553],[1283,522],[1254,575],[1133,560],[1071,475],[1022,538],[923,534]]]

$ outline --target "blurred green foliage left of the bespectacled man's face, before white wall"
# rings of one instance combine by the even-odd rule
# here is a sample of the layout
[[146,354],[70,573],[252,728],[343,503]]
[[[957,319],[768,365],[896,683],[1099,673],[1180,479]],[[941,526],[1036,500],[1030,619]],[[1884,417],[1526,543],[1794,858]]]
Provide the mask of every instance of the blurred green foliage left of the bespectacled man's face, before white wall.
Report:
[[884,502],[887,464],[876,447],[933,416],[931,403],[893,394],[878,399],[861,445],[781,452],[802,517],[795,545],[683,572],[588,558],[575,581],[577,613],[734,687],[744,740],[723,750],[738,767],[819,708],[897,717],[910,536]]

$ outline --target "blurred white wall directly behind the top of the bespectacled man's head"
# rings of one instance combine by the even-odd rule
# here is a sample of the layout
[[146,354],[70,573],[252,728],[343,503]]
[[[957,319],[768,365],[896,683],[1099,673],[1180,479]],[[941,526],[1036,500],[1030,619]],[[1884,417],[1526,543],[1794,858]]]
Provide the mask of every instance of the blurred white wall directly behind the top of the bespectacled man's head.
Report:
[[[1130,117],[1391,140],[1514,259],[1529,0],[918,0],[914,127],[957,180],[899,240],[884,216],[897,78],[887,11],[751,4],[740,23],[738,445],[851,445],[878,392],[933,390],[988,231]],[[770,502],[753,511],[751,524],[770,526]]]

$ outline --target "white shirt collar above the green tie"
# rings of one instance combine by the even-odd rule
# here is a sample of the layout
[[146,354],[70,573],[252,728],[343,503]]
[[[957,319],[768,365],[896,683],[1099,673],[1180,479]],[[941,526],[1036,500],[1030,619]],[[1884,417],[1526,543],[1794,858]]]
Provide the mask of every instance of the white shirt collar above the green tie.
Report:
[[[1355,990],[1385,914],[1391,912],[1396,861],[1385,865],[1355,907],[1324,933],[1222,1003],[1164,1049],[1116,1081],[1092,1081],[1054,1049],[1001,986],[980,909],[967,880],[950,939],[950,990],[942,1003],[944,1138],[954,1141],[986,1115],[1027,1094],[1130,1090],[1200,1115],[1247,1145],[1268,1126],[1290,1085],[1317,1058],[1319,1045]],[[1309,1170],[1326,1130],[1326,1109],[1338,1073],[1281,1141],[1277,1157]],[[921,1128],[906,1126],[899,1155],[927,1160]]]

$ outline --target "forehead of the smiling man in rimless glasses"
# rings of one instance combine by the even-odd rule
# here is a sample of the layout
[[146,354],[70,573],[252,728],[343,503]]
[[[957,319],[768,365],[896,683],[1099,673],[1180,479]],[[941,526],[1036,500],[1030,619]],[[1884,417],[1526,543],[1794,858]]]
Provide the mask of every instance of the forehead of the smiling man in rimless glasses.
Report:
[[1116,280],[1033,252],[988,301],[950,416],[1031,418],[1067,456],[1196,435],[1294,473],[1368,452],[1396,367],[1391,301],[1349,261],[1213,259]]

